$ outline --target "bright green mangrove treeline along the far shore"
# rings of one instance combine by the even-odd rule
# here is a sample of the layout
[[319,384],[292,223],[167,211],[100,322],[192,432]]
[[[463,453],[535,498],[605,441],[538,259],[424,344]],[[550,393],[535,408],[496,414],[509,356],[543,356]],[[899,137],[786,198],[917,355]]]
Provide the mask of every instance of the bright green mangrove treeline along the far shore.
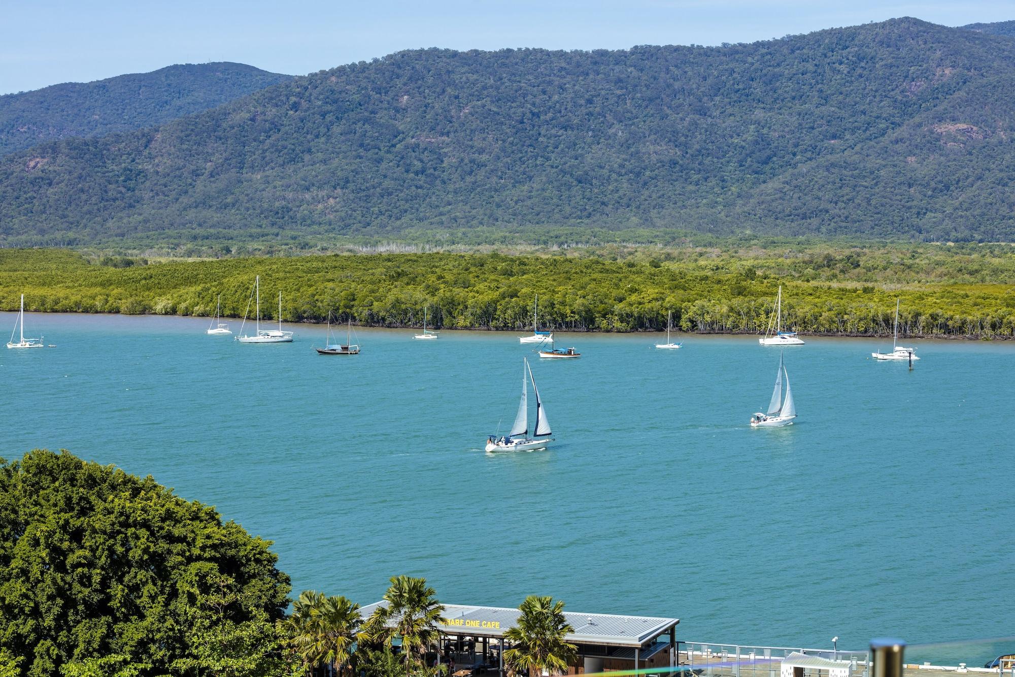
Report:
[[[636,250],[616,256],[498,253],[315,255],[150,262],[68,250],[0,250],[0,307],[41,312],[244,317],[255,274],[263,319],[362,326],[758,333],[779,286],[784,327],[810,334],[1015,336],[1015,259],[966,247]],[[1000,251],[1000,250],[998,250]],[[250,306],[248,304],[251,304]]]

